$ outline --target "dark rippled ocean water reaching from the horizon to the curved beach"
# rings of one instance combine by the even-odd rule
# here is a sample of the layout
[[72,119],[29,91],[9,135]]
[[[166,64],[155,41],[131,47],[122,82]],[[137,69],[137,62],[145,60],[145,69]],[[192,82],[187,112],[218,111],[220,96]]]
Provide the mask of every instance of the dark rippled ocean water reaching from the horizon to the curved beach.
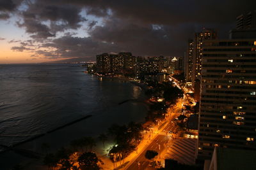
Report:
[[[145,121],[147,104],[122,103],[145,101],[140,87],[84,71],[77,64],[0,64],[0,145],[19,145],[45,134],[20,147],[40,152],[46,142],[56,150],[82,136],[97,138],[111,124]],[[47,133],[87,115],[92,117]],[[1,154],[8,159],[15,153]]]

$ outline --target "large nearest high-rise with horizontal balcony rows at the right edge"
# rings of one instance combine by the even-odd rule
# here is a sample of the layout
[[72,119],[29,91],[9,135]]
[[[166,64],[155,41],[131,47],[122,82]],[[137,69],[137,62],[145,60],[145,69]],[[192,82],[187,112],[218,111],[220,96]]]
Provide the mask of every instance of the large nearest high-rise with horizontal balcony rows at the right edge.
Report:
[[214,146],[256,150],[255,40],[204,42],[198,159]]

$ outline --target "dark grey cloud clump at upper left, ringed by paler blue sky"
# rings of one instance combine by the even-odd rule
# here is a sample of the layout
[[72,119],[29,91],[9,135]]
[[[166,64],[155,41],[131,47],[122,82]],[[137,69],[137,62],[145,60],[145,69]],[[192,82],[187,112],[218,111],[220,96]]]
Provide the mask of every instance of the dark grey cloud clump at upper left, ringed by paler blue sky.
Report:
[[42,39],[54,37],[56,32],[81,27],[86,21],[79,13],[81,7],[74,5],[54,5],[45,1],[28,4],[28,9],[20,13],[23,22],[19,23],[32,38]]

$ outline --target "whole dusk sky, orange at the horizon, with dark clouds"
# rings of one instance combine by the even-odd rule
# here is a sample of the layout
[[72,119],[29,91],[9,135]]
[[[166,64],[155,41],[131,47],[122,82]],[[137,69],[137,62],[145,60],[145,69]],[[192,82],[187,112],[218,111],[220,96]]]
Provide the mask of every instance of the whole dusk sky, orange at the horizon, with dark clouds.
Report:
[[104,52],[182,56],[202,28],[228,38],[251,0],[0,0],[0,64]]

